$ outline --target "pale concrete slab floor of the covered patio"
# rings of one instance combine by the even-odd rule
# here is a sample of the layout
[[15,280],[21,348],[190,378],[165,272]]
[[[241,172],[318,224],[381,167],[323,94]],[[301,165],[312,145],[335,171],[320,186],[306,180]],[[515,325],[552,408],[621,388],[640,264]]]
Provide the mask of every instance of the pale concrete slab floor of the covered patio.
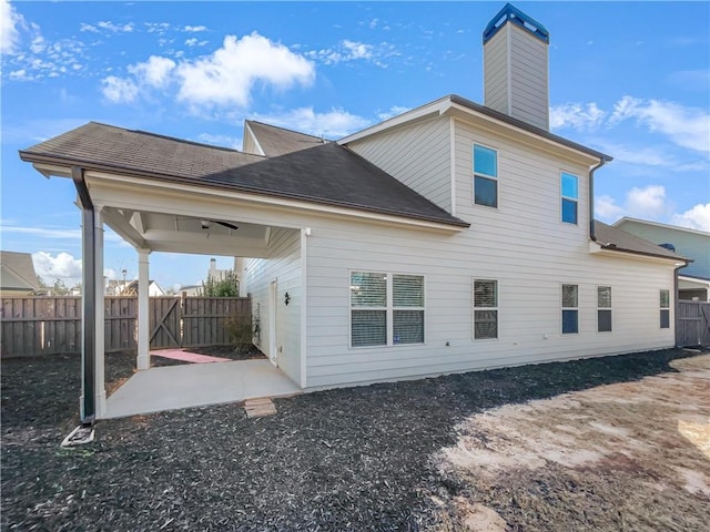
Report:
[[301,393],[268,360],[186,364],[138,371],[106,398],[104,419]]

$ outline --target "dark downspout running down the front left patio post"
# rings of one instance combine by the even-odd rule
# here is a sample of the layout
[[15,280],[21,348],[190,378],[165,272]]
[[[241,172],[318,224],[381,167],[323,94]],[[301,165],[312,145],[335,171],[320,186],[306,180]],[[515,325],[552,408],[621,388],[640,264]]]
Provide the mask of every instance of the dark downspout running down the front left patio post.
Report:
[[71,178],[77,187],[82,215],[82,346],[81,346],[81,424],[92,427],[97,417],[94,372],[95,372],[95,226],[94,208],[84,180],[84,171],[72,166]]

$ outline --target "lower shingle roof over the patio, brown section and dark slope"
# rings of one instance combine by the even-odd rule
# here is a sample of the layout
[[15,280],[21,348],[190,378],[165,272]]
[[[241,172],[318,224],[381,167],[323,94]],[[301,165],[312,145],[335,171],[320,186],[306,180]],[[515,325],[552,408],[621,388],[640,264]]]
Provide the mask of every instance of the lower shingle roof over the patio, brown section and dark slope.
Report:
[[20,157],[469,226],[336,143],[267,158],[91,122],[21,151]]

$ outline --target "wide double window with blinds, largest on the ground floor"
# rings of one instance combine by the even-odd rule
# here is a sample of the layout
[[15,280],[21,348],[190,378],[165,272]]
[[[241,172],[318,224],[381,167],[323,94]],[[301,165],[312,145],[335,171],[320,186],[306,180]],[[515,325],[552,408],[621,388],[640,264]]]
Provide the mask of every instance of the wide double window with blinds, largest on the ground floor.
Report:
[[351,273],[351,346],[424,344],[424,277]]

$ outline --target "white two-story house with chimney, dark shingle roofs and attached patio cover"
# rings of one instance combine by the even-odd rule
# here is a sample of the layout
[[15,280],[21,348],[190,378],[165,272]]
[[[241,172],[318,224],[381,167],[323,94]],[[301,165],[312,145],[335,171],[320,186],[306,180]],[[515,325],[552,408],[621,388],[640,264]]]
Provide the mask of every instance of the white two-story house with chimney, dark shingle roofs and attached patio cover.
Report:
[[247,121],[245,153],[92,122],[20,155],[72,176],[139,262],[251,257],[258,347],[305,390],[671,347],[686,260],[592,222],[611,157],[549,132],[548,42],[507,4],[485,105],[447,95],[338,142]]

